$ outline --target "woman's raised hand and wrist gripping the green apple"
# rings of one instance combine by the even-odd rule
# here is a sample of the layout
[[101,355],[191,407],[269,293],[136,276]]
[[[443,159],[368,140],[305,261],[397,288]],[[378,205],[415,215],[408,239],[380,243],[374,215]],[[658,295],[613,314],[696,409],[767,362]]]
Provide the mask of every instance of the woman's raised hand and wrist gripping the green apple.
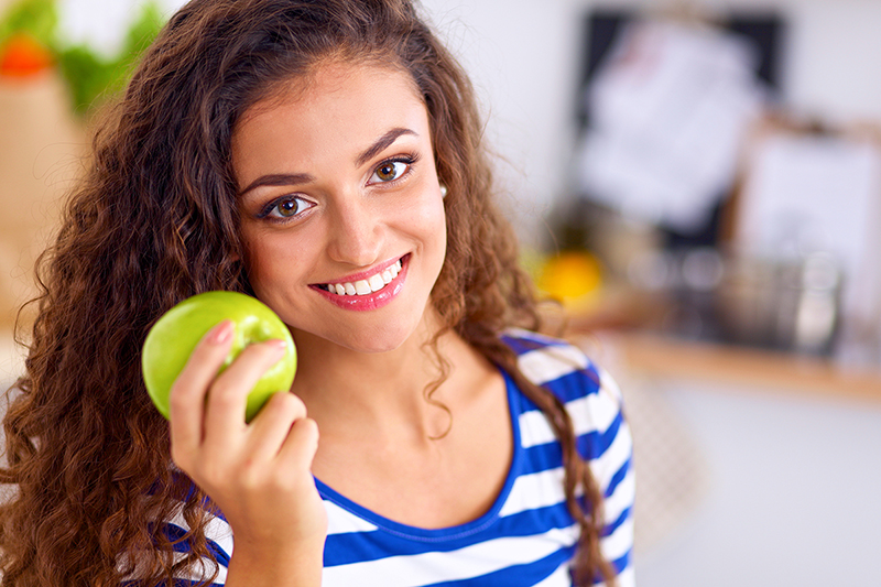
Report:
[[282,358],[284,343],[250,345],[216,377],[232,330],[229,320],[209,330],[172,387],[172,458],[232,528],[228,586],[236,577],[319,585],[327,514],[311,471],[318,427],[293,393],[273,394],[246,424],[248,392]]

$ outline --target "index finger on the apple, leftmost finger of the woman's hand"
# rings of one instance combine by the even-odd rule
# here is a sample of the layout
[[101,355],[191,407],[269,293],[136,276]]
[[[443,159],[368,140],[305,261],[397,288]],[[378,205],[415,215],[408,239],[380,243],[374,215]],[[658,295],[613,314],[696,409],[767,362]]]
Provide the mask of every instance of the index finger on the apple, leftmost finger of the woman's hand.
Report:
[[231,320],[222,320],[208,330],[172,385],[168,418],[177,452],[192,452],[202,444],[205,395],[229,352],[233,329]]

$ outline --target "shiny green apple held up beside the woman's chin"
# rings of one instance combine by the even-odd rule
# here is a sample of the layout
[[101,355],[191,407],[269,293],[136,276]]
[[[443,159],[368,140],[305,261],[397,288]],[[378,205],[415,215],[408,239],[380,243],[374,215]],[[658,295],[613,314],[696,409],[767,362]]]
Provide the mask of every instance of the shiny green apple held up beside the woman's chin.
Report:
[[273,365],[248,395],[246,421],[278,391],[287,391],[296,372],[296,348],[287,326],[259,300],[236,292],[207,292],[188,297],[162,315],[144,340],[141,354],[144,383],[159,411],[168,417],[168,394],[193,349],[215,325],[230,319],[236,326],[232,348],[218,374],[244,347],[273,338],[286,340],[284,357]]

